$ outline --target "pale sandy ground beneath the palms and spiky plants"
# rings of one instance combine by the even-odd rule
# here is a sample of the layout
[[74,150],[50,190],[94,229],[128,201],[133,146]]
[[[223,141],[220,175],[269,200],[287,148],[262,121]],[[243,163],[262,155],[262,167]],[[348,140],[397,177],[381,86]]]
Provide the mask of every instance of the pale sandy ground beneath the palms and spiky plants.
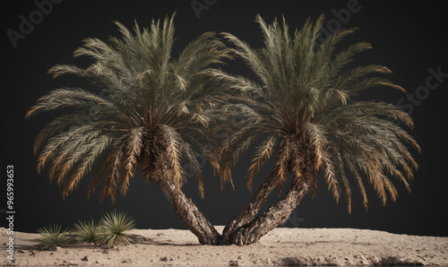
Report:
[[[217,227],[222,231],[223,227]],[[353,228],[276,228],[253,245],[199,245],[188,230],[134,229],[132,245],[70,245],[41,250],[37,234],[15,232],[14,261],[2,265],[443,265],[448,237],[417,237]],[[1,243],[7,243],[0,228]]]

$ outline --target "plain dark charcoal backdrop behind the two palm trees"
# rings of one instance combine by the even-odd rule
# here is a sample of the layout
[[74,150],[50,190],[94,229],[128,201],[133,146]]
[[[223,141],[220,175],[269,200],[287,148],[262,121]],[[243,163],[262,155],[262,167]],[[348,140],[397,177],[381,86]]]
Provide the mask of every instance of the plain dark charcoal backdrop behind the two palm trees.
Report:
[[[203,2],[199,0],[199,2]],[[213,1],[209,1],[213,2]],[[224,1],[218,0],[209,10],[202,10],[200,18],[194,13],[190,0],[185,1],[74,1],[65,0],[53,5],[53,11],[25,39],[13,47],[6,30],[19,30],[20,15],[28,17],[37,9],[32,1],[3,0],[0,2],[1,17],[1,68],[2,68],[2,159],[4,180],[6,166],[14,166],[14,227],[16,230],[33,232],[36,228],[51,223],[70,226],[76,220],[99,218],[113,209],[128,211],[137,221],[137,228],[185,228],[172,210],[169,202],[157,185],[148,188],[138,175],[128,195],[118,197],[115,206],[106,201],[99,203],[98,194],[86,198],[89,177],[84,177],[79,188],[62,200],[61,190],[50,184],[45,174],[36,172],[36,157],[32,154],[34,138],[39,130],[58,112],[50,112],[25,120],[28,108],[48,90],[64,86],[92,87],[79,78],[62,77],[51,79],[47,69],[56,64],[86,65],[86,58],[73,59],[73,50],[82,45],[82,39],[97,37],[106,39],[118,34],[112,21],[124,23],[128,28],[134,19],[141,26],[149,26],[151,19],[163,18],[177,10],[176,27],[178,51],[204,31],[229,31],[251,46],[263,45],[261,31],[254,22],[256,13],[268,21],[284,14],[290,28],[299,28],[306,18],[316,19],[320,13],[327,20],[335,19],[332,10],[346,8],[349,1]],[[393,2],[393,3],[392,3]],[[446,39],[446,12],[441,4],[423,1],[374,1],[359,0],[361,9],[351,13],[347,27],[360,30],[348,38],[347,44],[360,40],[371,42],[374,49],[358,56],[358,64],[386,65],[394,72],[392,81],[410,93],[425,85],[428,68],[441,67],[448,73]],[[442,1],[440,1],[442,3]],[[346,44],[346,43],[344,43]],[[247,68],[239,62],[230,63],[232,73],[250,77]],[[443,82],[436,90],[430,90],[426,99],[413,105],[411,116],[415,129],[411,132],[422,146],[422,154],[412,151],[420,168],[411,182],[412,193],[408,194],[398,185],[400,196],[397,202],[388,202],[385,207],[369,186],[369,210],[362,207],[359,194],[353,185],[353,211],[347,212],[345,202],[336,203],[326,189],[323,179],[312,201],[307,196],[297,207],[286,227],[302,228],[369,228],[393,233],[415,235],[448,236],[446,221],[448,204],[446,175],[446,86]],[[403,95],[398,91],[375,89],[362,95],[363,99],[387,100],[397,103]],[[408,101],[406,101],[408,103]],[[224,225],[240,211],[251,198],[246,189],[246,168],[250,164],[250,152],[234,168],[235,191],[230,185],[220,190],[217,177],[212,177],[211,168],[203,168],[205,198],[202,200],[194,179],[184,186],[185,194],[194,199],[199,209],[212,224]],[[263,168],[255,179],[260,185],[270,172]],[[1,183],[5,195],[5,182]],[[5,197],[0,198],[0,208],[6,207]],[[276,200],[272,196],[270,203]],[[2,215],[3,216],[3,215]],[[298,218],[298,219],[297,219]],[[305,219],[305,220],[303,220]],[[4,218],[2,226],[6,223]]]

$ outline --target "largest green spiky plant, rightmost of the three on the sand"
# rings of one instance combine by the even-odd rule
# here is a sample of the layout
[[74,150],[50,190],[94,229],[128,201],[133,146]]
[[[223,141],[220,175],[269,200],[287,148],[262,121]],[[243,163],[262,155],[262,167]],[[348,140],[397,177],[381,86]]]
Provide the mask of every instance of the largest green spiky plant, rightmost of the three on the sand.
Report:
[[106,246],[129,245],[132,237],[125,232],[135,227],[134,219],[124,211],[110,211],[99,221],[99,243]]

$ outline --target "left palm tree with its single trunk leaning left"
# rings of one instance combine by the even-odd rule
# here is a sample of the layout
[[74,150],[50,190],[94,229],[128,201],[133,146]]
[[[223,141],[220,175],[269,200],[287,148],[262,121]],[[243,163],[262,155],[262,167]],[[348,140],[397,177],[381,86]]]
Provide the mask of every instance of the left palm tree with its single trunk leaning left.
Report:
[[38,171],[47,168],[49,179],[56,180],[64,196],[94,169],[88,196],[101,185],[100,200],[109,196],[115,202],[118,187],[125,195],[141,168],[145,181],[159,185],[202,244],[218,244],[220,234],[181,191],[185,179],[181,164],[189,162],[203,196],[196,155],[203,153],[218,168],[205,145],[213,121],[208,110],[227,101],[211,65],[223,63],[232,50],[207,32],[173,59],[173,19],[174,14],[163,22],[152,21],[150,29],[142,30],[135,22],[134,32],[116,22],[121,39],[85,39],[74,56],[90,56],[91,65],[56,65],[49,73],[81,76],[107,96],[79,88],[51,90],[26,117],[58,108],[72,110],[49,123],[34,147]]

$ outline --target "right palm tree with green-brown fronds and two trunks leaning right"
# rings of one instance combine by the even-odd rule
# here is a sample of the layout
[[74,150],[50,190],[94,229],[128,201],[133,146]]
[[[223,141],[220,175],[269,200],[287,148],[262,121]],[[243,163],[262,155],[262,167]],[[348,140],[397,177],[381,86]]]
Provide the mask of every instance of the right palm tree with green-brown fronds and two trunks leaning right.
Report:
[[[341,39],[355,29],[338,30],[318,43],[324,17],[308,19],[293,33],[283,18],[270,25],[257,15],[263,31],[264,46],[250,47],[237,37],[223,33],[253,70],[259,82],[216,71],[228,88],[246,93],[246,106],[233,109],[246,120],[240,130],[220,149],[222,180],[230,180],[230,169],[237,157],[258,140],[253,164],[248,169],[247,187],[258,170],[271,157],[271,176],[254,194],[252,201],[223,232],[223,244],[251,244],[289,218],[307,193],[314,193],[319,173],[334,199],[345,197],[351,211],[349,178],[354,179],[367,208],[365,179],[386,203],[388,194],[395,201],[397,190],[390,177],[409,189],[417,163],[409,153],[417,142],[388,117],[400,120],[409,128],[412,119],[401,109],[381,101],[357,101],[351,98],[375,87],[402,90],[383,78],[392,73],[383,65],[349,65],[359,52],[371,48],[366,42],[355,43],[336,51]],[[287,194],[255,218],[271,191],[292,175]],[[281,191],[280,191],[281,192]]]

